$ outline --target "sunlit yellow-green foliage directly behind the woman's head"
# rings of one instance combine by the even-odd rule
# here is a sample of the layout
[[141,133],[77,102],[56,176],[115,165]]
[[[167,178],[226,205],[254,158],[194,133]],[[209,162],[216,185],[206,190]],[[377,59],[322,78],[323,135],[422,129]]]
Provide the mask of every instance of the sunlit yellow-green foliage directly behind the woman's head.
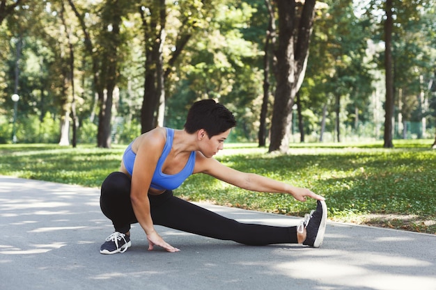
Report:
[[197,24],[202,29],[192,35],[167,83],[166,124],[181,127],[192,102],[213,98],[238,118],[229,140],[255,140],[262,98],[258,47],[265,31],[264,25],[258,28],[258,17],[265,16],[241,1],[212,1],[210,6],[203,9]]

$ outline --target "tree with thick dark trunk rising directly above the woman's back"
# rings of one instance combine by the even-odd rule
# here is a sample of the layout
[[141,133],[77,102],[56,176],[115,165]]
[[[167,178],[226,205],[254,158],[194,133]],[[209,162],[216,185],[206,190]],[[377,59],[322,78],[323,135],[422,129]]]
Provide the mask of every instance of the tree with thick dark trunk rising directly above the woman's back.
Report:
[[[175,71],[176,61],[195,31],[202,26],[207,27],[205,14],[211,6],[212,4],[207,5],[205,1],[200,0],[171,4],[165,0],[141,3],[139,13],[145,54],[142,132],[149,131],[157,125],[164,126],[166,80]],[[171,27],[171,33],[167,31],[167,25]]]

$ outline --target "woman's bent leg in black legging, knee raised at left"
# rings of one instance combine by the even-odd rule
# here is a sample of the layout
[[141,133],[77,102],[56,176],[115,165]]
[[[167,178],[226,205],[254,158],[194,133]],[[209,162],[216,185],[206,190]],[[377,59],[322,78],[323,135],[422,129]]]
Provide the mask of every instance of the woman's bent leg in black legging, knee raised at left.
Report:
[[104,179],[100,195],[100,208],[114,224],[115,231],[127,233],[130,224],[137,223],[130,201],[130,178],[123,172],[112,172]]

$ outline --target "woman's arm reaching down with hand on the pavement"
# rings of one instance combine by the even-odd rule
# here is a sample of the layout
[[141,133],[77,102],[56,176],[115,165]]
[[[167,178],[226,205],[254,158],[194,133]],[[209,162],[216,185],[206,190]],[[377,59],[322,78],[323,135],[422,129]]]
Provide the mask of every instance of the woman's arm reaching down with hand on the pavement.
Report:
[[153,172],[157,165],[157,160],[165,143],[165,136],[158,130],[150,131],[146,136],[135,142],[138,142],[137,156],[134,162],[132,174],[132,187],[130,189],[130,200],[135,216],[139,225],[147,234],[148,250],[153,250],[153,245],[159,245],[169,252],[176,252],[178,249],[173,248],[166,243],[155,231],[153,220],[150,214],[150,200],[148,200],[148,189],[150,188]]

